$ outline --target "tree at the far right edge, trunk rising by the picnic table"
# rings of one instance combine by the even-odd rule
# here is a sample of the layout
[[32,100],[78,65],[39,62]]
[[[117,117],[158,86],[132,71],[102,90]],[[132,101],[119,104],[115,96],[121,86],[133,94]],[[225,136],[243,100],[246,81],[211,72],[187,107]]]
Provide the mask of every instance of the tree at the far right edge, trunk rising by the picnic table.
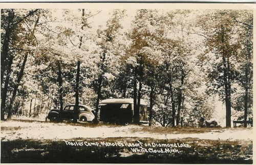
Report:
[[[252,11],[240,11],[233,13],[233,19],[241,26],[239,33],[239,41],[241,43],[241,51],[239,63],[239,84],[243,88],[242,94],[244,105],[244,127],[247,127],[248,109],[252,107],[252,31],[253,16]],[[239,102],[239,100],[237,100]]]

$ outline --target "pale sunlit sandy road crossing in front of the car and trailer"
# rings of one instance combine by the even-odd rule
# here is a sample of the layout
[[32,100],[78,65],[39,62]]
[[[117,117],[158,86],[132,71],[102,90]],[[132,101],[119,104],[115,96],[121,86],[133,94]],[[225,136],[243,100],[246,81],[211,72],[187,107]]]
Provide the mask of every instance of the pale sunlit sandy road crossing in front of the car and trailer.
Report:
[[72,126],[65,123],[42,122],[1,122],[1,139],[72,139],[72,138],[108,138],[108,137],[151,137],[155,139],[200,138],[212,140],[252,140],[252,128],[232,128],[211,130],[206,133],[154,133],[145,131],[143,126]]

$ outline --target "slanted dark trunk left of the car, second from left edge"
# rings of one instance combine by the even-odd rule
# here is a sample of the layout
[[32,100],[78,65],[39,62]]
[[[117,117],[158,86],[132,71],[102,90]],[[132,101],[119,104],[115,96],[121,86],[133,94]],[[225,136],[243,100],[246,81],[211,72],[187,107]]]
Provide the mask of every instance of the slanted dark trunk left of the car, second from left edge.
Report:
[[8,112],[8,115],[7,115],[7,120],[11,119],[13,103],[15,101],[16,92],[18,90],[20,80],[22,80],[22,76],[23,76],[23,73],[24,73],[24,68],[25,68],[25,65],[26,65],[26,62],[27,62],[27,58],[28,58],[28,53],[26,53],[26,55],[24,57],[22,67],[20,68],[20,72],[18,74],[17,81],[14,85],[13,94],[12,94],[12,98],[11,98],[11,102],[10,102],[10,109],[9,109],[9,112]]

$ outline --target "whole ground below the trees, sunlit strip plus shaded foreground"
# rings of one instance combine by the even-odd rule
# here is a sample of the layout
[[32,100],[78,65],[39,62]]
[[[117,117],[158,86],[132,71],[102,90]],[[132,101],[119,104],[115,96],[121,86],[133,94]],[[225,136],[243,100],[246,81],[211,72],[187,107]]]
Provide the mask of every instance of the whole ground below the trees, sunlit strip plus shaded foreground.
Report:
[[252,128],[242,127],[94,125],[19,117],[1,123],[1,162],[252,163],[252,140]]

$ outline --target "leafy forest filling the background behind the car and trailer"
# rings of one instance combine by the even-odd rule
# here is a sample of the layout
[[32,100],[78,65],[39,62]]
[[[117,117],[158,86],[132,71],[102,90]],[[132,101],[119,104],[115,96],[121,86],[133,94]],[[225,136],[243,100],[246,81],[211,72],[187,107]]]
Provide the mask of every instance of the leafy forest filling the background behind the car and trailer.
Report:
[[78,93],[91,107],[142,98],[163,127],[230,127],[252,119],[252,30],[252,10],[2,9],[1,120]]

